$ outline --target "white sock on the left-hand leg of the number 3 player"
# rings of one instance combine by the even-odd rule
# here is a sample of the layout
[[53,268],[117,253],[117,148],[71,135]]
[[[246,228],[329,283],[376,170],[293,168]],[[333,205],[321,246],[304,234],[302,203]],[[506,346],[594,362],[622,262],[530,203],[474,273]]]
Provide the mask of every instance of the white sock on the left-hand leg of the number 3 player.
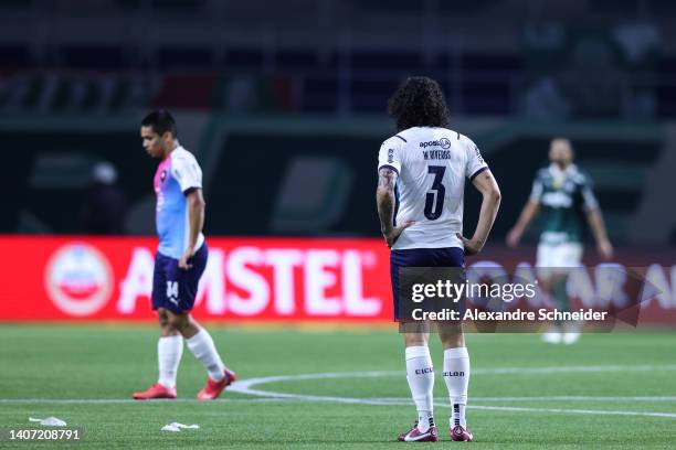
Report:
[[418,429],[425,432],[434,425],[434,367],[430,349],[426,346],[406,347],[406,379],[418,409]]

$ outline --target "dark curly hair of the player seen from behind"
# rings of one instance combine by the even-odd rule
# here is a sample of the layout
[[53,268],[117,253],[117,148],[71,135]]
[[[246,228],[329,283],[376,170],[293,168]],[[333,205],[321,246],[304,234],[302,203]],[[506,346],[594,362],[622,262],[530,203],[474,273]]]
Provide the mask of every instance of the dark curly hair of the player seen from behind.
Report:
[[406,78],[388,101],[398,131],[411,127],[447,127],[448,107],[439,83],[426,76]]

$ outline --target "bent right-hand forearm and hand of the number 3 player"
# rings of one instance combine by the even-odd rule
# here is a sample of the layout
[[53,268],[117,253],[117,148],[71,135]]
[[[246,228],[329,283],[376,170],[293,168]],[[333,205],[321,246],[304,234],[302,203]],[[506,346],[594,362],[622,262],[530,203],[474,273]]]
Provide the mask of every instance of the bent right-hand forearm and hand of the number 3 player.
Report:
[[472,238],[467,239],[460,233],[457,234],[457,237],[465,246],[465,255],[476,255],[484,248],[490,228],[493,228],[493,224],[495,223],[495,217],[497,216],[501,200],[500,189],[489,170],[484,170],[472,180],[472,183],[480,192],[484,200],[482,201],[479,219]]

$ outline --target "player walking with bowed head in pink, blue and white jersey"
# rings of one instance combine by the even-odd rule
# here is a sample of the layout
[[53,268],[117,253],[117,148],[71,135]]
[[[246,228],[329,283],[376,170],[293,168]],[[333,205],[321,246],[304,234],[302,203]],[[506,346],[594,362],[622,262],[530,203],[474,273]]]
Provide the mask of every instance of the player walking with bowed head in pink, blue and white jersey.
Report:
[[159,319],[160,339],[159,379],[147,390],[134,393],[137,400],[176,398],[183,340],[209,373],[207,385],[198,393],[200,400],[216,398],[235,379],[234,372],[223,365],[211,335],[190,315],[209,254],[202,234],[205,203],[200,165],[179,144],[176,131],[176,121],[165,110],[151,113],[141,121],[144,148],[161,160],[155,174],[159,248],[152,277],[152,309]]

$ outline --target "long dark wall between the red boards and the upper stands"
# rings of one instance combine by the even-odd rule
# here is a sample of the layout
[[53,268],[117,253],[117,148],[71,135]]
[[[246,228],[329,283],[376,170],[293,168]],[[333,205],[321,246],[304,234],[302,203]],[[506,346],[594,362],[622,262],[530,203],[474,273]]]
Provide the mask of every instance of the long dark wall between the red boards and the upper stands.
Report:
[[[141,201],[151,203],[157,162],[142,150],[135,124],[128,125],[99,131],[80,131],[75,125],[51,131],[30,127],[2,131],[4,158],[11,167],[4,171],[4,179],[11,195],[6,196],[0,231],[83,233],[88,171],[97,160],[117,168],[118,185],[130,206]],[[203,144],[198,139],[186,142],[198,154],[205,174],[207,232],[234,236],[378,236],[377,154],[388,137],[387,129],[382,136],[378,130],[365,133],[348,127],[319,133],[310,126],[296,126],[286,132],[264,128],[233,131],[220,140],[214,138],[205,153],[199,151]],[[503,191],[493,233],[494,239],[501,239],[528,197],[535,172],[548,163],[551,135],[517,133],[496,143],[486,133],[467,133],[484,151]],[[606,132],[603,138],[572,139],[580,168],[594,181],[611,237],[621,244],[627,219],[645,195],[662,142],[658,136],[641,141],[612,136]],[[465,233],[471,234],[480,196],[469,183],[466,191]],[[151,231],[154,212],[148,206],[136,219],[150,225],[142,229]]]

